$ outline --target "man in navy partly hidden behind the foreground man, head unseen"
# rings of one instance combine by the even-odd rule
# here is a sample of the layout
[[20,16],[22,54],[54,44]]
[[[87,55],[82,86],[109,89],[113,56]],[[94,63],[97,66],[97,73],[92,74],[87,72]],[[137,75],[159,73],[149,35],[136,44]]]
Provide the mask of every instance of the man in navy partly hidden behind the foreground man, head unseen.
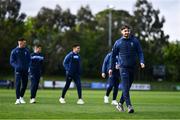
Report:
[[[112,76],[108,75],[108,71],[110,68],[110,58],[111,58],[112,52],[108,53],[106,57],[104,58],[104,62],[102,65],[102,77],[105,78],[108,77],[108,87],[106,90],[106,95],[104,96],[104,103],[109,103],[109,94],[113,89],[113,100],[111,102],[112,105],[118,105],[118,102],[116,101],[116,97],[118,94],[118,86],[119,86],[119,64],[116,58],[116,67],[113,70]],[[117,56],[118,57],[118,56]]]

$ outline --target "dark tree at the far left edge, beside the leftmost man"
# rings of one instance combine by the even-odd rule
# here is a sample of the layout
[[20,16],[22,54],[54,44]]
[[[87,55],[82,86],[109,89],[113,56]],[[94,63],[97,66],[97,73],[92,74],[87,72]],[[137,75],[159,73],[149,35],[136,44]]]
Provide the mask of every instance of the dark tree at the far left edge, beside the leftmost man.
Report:
[[23,36],[26,14],[19,13],[19,0],[0,0],[0,71],[10,70],[9,55],[17,44],[17,39]]

